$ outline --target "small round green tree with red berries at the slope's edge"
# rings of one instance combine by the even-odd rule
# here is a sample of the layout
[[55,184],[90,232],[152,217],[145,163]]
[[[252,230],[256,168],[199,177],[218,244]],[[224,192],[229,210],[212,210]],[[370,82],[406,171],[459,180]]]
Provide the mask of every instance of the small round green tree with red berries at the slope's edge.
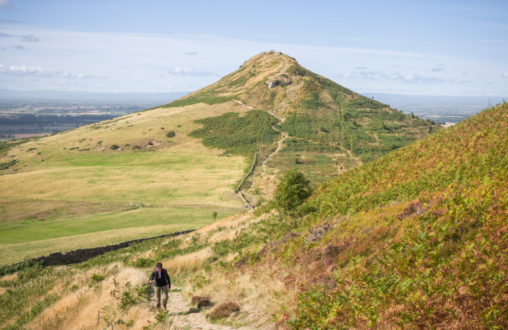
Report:
[[301,205],[310,196],[310,180],[296,169],[289,170],[275,190],[275,201],[279,208],[291,210]]

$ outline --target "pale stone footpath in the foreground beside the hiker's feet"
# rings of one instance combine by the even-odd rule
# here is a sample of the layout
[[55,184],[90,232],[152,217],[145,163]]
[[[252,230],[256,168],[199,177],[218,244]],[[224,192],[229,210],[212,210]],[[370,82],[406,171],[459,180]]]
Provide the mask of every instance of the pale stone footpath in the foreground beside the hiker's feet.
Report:
[[[265,323],[264,320],[260,320],[260,315],[239,313],[240,321],[237,326],[226,326],[220,324],[212,324],[206,321],[205,314],[203,311],[198,313],[189,313],[188,301],[183,300],[181,291],[183,288],[171,286],[171,289],[177,289],[179,291],[168,292],[168,312],[174,319],[174,324],[181,327],[187,327],[189,330],[202,329],[202,330],[226,330],[226,329],[241,329],[241,330],[254,330],[254,329],[270,329],[273,328],[273,324]],[[153,307],[156,306],[155,293],[152,292],[150,296],[150,303]],[[245,324],[245,325],[242,325]],[[239,326],[241,325],[241,326]]]

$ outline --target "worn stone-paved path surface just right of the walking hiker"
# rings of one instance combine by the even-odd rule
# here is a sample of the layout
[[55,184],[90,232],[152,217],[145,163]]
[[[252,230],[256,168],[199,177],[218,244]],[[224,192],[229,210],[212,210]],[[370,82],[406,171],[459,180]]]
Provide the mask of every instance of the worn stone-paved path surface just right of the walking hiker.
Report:
[[[172,285],[171,290],[175,290],[172,292],[168,292],[168,314],[171,314],[174,319],[174,324],[179,325],[181,327],[187,327],[189,330],[200,329],[200,330],[229,330],[229,329],[240,329],[240,330],[255,330],[254,327],[249,327],[248,325],[241,327],[233,327],[226,326],[221,324],[212,324],[209,323],[203,312],[193,312],[189,313],[189,309],[191,307],[188,306],[188,301],[183,300],[182,294],[185,294],[185,291],[181,287],[177,287]],[[176,291],[177,290],[177,291]],[[155,292],[152,291],[150,295],[150,303],[155,308]],[[253,320],[255,321],[255,320]],[[258,327],[256,327],[258,328]]]

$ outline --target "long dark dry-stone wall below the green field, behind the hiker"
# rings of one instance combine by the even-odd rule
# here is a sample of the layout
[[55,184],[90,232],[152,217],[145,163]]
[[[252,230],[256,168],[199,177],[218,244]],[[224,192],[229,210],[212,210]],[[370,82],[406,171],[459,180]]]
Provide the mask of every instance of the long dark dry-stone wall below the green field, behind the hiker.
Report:
[[[104,254],[109,251],[115,251],[118,249],[128,247],[134,243],[140,243],[140,242],[143,242],[146,240],[153,240],[155,238],[160,238],[160,237],[184,235],[184,234],[194,232],[194,230],[198,230],[198,229],[183,230],[183,232],[175,232],[175,233],[164,234],[164,235],[159,235],[159,236],[141,238],[141,239],[137,239],[137,240],[125,241],[125,242],[121,242],[121,243],[117,243],[117,244],[105,245],[105,246],[94,247],[94,248],[77,249],[77,250],[64,251],[64,252],[55,252],[55,253],[50,253],[48,255],[40,255],[36,258],[33,258],[32,260],[36,261],[36,262],[43,261],[44,265],[53,265],[54,263],[58,263],[58,262],[83,261],[83,260],[86,260],[89,258],[96,257],[98,255]],[[13,263],[12,266],[15,266],[17,263],[20,263],[20,262],[22,262],[22,261],[15,262],[15,263]]]

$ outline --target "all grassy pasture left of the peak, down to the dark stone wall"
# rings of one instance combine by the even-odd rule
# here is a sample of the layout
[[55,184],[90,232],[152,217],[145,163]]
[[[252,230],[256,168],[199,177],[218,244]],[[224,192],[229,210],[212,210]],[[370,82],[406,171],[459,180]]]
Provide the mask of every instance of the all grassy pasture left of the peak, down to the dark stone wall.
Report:
[[[122,208],[129,202],[238,208],[243,202],[233,190],[248,167],[247,159],[225,156],[224,150],[207,148],[187,135],[201,126],[193,120],[233,110],[248,111],[233,104],[197,104],[131,114],[40,139],[4,143],[0,146],[0,164],[5,163],[0,167],[0,199],[112,201],[123,202]],[[171,131],[175,136],[168,138]],[[118,149],[113,150],[113,145]],[[33,219],[35,214],[57,212],[62,204],[35,203],[29,212],[21,212],[26,203],[6,205],[10,207],[2,209],[0,218],[19,216],[0,223],[2,264],[26,255],[196,228],[212,221],[203,212],[162,208],[152,213],[143,209],[144,221],[139,222],[133,211],[115,218],[112,214],[117,210],[97,210],[93,204],[84,205],[81,214],[64,216],[65,221],[40,221]],[[100,225],[92,225],[91,219]]]

